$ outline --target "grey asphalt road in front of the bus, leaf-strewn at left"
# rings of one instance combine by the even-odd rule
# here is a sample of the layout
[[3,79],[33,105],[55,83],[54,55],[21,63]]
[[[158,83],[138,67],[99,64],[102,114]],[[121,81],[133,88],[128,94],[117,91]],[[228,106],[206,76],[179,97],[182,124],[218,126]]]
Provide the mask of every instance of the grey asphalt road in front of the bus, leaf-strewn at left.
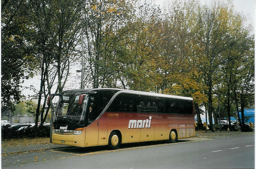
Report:
[[2,157],[2,168],[255,168],[253,134],[173,144],[65,148]]

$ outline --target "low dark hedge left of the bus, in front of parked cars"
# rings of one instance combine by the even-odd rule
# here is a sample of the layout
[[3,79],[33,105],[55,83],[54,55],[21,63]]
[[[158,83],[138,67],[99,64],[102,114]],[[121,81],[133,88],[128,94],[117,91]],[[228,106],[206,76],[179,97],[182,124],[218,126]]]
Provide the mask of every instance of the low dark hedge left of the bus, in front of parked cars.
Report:
[[50,137],[50,126],[38,126],[35,128],[27,127],[23,130],[15,131],[10,124],[1,127],[2,140],[20,139],[20,138],[35,138],[35,137]]

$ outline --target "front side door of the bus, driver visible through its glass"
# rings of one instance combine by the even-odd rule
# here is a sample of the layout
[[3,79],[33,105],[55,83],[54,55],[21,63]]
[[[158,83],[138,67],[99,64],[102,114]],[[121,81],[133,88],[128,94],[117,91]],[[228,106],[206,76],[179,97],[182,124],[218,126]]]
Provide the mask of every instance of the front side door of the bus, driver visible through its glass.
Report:
[[87,109],[87,127],[85,135],[85,146],[97,146],[99,136],[99,102],[90,95],[89,107]]

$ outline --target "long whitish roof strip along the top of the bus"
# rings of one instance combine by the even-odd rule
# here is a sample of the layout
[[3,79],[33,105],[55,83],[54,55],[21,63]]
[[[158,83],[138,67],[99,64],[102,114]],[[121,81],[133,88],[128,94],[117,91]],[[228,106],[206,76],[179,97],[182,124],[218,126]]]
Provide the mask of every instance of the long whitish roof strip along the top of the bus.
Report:
[[143,91],[135,91],[135,90],[127,90],[127,89],[116,89],[116,88],[95,88],[95,89],[76,89],[76,90],[67,90],[64,92],[83,92],[83,91],[95,91],[95,90],[116,90],[116,91],[124,91],[124,93],[131,93],[137,95],[148,95],[148,96],[156,96],[156,97],[167,97],[174,99],[183,99],[183,100],[193,100],[192,97],[184,97],[184,96],[176,96],[176,95],[166,95],[160,93],[151,93],[151,92],[143,92]]

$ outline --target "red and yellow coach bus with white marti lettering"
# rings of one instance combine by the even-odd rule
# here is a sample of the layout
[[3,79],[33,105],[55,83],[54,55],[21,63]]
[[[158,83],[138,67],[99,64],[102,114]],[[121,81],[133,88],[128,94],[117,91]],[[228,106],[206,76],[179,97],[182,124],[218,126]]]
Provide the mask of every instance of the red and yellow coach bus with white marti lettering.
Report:
[[124,89],[79,89],[54,95],[59,96],[54,144],[117,149],[121,143],[174,143],[195,136],[191,97]]

